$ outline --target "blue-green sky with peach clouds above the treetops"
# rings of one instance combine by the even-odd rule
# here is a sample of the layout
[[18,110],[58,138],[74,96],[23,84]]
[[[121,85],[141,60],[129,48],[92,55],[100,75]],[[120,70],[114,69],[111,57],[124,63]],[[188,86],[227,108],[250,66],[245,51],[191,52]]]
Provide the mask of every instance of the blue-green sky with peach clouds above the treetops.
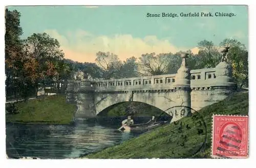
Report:
[[[25,39],[33,33],[56,38],[66,59],[95,62],[98,51],[124,61],[143,53],[198,52],[208,40],[219,45],[237,39],[248,48],[247,6],[20,6]],[[146,17],[147,13],[176,13],[178,17]],[[233,17],[181,17],[180,13],[233,13]]]

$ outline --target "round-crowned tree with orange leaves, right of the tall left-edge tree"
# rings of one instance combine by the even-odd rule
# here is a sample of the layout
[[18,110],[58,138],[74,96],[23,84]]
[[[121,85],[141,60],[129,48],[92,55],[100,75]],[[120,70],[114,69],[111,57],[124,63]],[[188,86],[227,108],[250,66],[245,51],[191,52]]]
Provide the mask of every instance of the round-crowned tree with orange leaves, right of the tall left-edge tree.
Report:
[[[24,41],[24,48],[26,50],[28,67],[31,67],[31,60],[33,60],[34,64],[39,65],[35,67],[33,73],[30,71],[26,74],[36,90],[38,82],[42,82],[45,87],[47,80],[58,79],[60,71],[58,67],[64,57],[64,53],[56,39],[51,38],[46,33],[34,33]],[[25,69],[31,70],[31,68]]]

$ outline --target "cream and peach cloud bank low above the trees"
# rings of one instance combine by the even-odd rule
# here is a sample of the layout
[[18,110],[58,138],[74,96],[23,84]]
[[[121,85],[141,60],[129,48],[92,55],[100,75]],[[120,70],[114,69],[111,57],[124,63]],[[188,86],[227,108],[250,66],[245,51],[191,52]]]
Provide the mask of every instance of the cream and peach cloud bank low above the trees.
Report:
[[95,62],[98,51],[113,52],[120,60],[126,60],[133,56],[139,58],[143,53],[175,53],[191,49],[178,48],[168,40],[158,39],[156,36],[146,36],[141,39],[129,34],[117,34],[113,37],[94,36],[83,30],[67,32],[66,35],[60,35],[56,30],[45,32],[60,42],[66,58],[79,62]]

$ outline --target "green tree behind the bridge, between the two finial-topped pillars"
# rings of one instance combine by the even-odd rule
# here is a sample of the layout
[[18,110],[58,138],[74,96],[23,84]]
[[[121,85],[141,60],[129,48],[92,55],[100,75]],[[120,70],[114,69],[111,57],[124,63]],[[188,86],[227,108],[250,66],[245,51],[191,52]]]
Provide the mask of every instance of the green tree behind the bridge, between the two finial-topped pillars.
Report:
[[200,64],[202,68],[214,68],[221,59],[221,54],[218,52],[218,48],[212,43],[212,41],[203,40],[198,43],[198,56],[200,57]]

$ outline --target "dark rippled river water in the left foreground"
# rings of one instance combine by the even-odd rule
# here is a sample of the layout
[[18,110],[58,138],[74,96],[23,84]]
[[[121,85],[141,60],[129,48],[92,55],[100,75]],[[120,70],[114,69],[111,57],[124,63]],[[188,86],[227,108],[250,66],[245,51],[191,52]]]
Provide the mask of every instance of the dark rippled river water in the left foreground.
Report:
[[143,133],[120,132],[118,127],[120,124],[88,121],[77,121],[74,125],[7,123],[6,153],[9,158],[77,158]]

